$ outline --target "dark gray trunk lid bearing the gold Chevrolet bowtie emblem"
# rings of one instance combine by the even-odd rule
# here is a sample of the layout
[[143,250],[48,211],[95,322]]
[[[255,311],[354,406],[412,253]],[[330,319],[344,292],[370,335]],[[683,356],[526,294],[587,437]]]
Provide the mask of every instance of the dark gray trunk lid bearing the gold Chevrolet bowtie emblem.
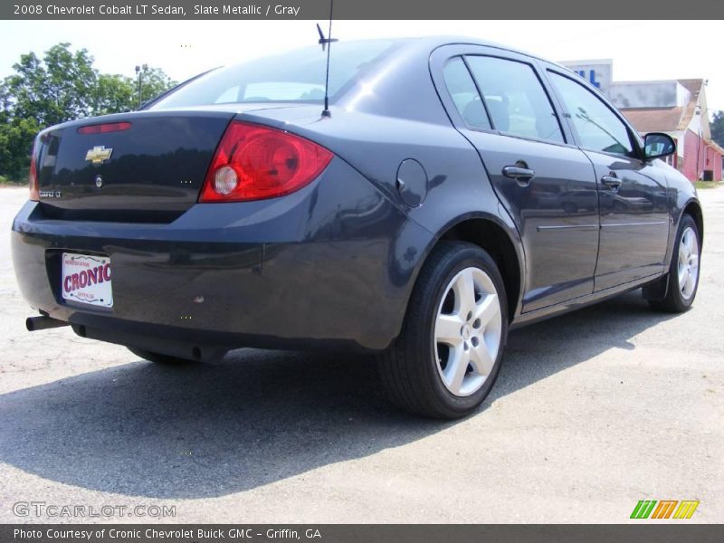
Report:
[[41,133],[37,176],[50,218],[171,222],[198,199],[214,150],[243,107],[138,111]]

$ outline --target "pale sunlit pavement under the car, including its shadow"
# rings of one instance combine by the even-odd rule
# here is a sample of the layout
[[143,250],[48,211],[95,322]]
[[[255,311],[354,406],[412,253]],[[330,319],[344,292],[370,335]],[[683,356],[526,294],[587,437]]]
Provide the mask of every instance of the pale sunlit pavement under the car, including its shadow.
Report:
[[724,188],[700,196],[693,310],[635,291],[513,332],[481,410],[440,424],[386,405],[365,357],[163,367],[26,332],[6,234],[26,189],[0,189],[0,522],[84,520],[14,515],[44,501],[175,505],[159,522],[617,523],[643,499],[700,500],[690,522],[720,522]]

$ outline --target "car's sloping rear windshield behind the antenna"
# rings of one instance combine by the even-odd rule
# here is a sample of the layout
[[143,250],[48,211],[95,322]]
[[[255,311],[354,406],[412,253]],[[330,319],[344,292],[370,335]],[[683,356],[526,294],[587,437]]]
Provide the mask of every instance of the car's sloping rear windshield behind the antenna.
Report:
[[[332,43],[329,96],[364,75],[400,41]],[[320,45],[210,71],[153,104],[151,110],[263,101],[324,99],[327,52]]]

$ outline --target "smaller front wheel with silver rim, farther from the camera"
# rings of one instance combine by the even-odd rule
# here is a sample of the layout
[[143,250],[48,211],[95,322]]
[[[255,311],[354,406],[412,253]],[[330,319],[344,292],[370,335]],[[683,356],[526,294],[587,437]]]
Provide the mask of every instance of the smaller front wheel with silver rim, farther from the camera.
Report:
[[676,233],[672,263],[663,280],[669,282],[666,296],[662,300],[648,300],[654,310],[683,313],[691,309],[699,290],[700,247],[699,228],[691,215],[685,214]]

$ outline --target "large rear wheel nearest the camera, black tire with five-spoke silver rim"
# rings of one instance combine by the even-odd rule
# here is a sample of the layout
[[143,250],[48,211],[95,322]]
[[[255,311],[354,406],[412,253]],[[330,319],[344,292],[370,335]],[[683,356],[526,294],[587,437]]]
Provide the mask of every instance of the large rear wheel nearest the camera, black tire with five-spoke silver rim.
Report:
[[472,243],[440,243],[420,271],[400,336],[380,357],[390,399],[434,418],[472,413],[500,371],[507,308],[487,252]]

